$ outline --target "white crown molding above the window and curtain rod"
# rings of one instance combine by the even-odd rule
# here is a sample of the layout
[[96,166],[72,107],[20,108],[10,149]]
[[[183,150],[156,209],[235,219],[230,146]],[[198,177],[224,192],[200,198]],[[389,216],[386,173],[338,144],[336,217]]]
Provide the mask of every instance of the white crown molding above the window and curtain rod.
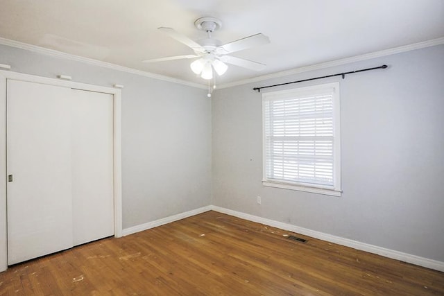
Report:
[[413,51],[415,49],[423,49],[425,47],[435,46],[435,45],[439,45],[439,44],[444,44],[444,37],[437,38],[434,40],[427,40],[425,42],[418,42],[418,43],[414,43],[414,44],[398,46],[398,47],[394,47],[393,49],[384,49],[383,51],[375,51],[373,53],[365,53],[364,55],[355,55],[354,57],[343,58],[341,60],[333,60],[330,62],[323,62],[321,64],[312,64],[312,65],[309,65],[306,67],[299,67],[299,68],[291,69],[288,71],[276,72],[276,73],[271,73],[271,74],[267,74],[267,75],[263,75],[263,76],[257,76],[255,78],[249,78],[249,79],[239,80],[236,82],[225,83],[223,85],[218,85],[217,88],[223,89],[223,88],[234,87],[234,86],[238,86],[238,85],[246,85],[248,83],[259,82],[259,81],[268,80],[268,79],[272,79],[272,78],[281,78],[284,76],[291,76],[291,75],[302,73],[302,72],[308,72],[308,71],[314,71],[314,70],[318,70],[318,69],[336,67],[336,66],[341,66],[343,64],[350,64],[352,62],[360,62],[360,61],[364,61],[364,60],[370,60],[373,58],[381,58],[386,55],[393,55],[395,53],[404,53],[406,51]]

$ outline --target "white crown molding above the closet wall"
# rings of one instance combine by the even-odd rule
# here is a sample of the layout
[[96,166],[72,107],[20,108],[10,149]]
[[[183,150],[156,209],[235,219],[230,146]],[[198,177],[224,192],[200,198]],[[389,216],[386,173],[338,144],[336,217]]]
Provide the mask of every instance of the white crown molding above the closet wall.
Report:
[[177,83],[180,85],[187,85],[189,87],[196,87],[199,89],[206,89],[207,88],[207,87],[205,87],[205,85],[200,85],[198,83],[193,83],[193,82],[189,82],[189,81],[185,81],[185,80],[181,80],[181,79],[177,79],[177,78],[171,78],[169,76],[163,76],[160,74],[150,73],[147,71],[141,71],[141,70],[136,70],[136,69],[132,69],[132,68],[128,68],[128,67],[123,67],[123,66],[119,66],[118,64],[112,64],[110,62],[103,62],[100,60],[94,60],[92,58],[84,58],[79,55],[71,55],[70,53],[63,53],[62,51],[56,51],[53,49],[45,49],[44,47],[40,47],[40,46],[36,46],[36,45],[32,45],[32,44],[27,44],[24,42],[18,42],[15,40],[9,40],[9,39],[2,38],[2,37],[0,37],[0,44],[15,47],[17,49],[25,49],[27,51],[33,51],[35,53],[41,53],[43,55],[50,55],[50,56],[56,57],[56,58],[64,58],[67,60],[74,60],[76,62],[83,62],[85,64],[91,64],[93,66],[99,66],[99,67],[122,71],[122,72],[126,72],[126,73],[132,73],[132,74],[136,74],[136,75],[140,75],[140,76],[154,78],[157,80],[164,80],[167,82],[173,82],[173,83]]

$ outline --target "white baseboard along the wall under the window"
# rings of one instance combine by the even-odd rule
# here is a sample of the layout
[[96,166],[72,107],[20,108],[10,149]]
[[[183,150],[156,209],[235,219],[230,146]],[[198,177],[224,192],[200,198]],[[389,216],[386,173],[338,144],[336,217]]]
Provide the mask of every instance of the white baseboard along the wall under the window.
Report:
[[239,211],[233,211],[231,209],[225,209],[223,207],[210,206],[210,209],[213,211],[218,211],[219,213],[228,214],[231,216],[235,216],[237,218],[242,218],[245,220],[250,220],[256,223],[261,223],[264,225],[277,227],[280,229],[289,230],[291,232],[296,232],[298,234],[303,234],[306,236],[311,236],[313,238],[318,238],[323,241],[328,241],[330,243],[337,243],[338,245],[345,245],[346,247],[352,247],[357,250],[378,254],[384,257],[388,257],[391,259],[396,259],[400,261],[404,261],[407,263],[412,263],[415,265],[420,265],[425,268],[430,268],[433,270],[439,270],[444,272],[444,262],[436,261],[432,259],[427,259],[424,257],[407,254],[403,252],[398,252],[395,250],[386,249],[384,247],[378,247],[376,245],[369,245],[368,243],[361,243],[359,241],[352,241],[348,238],[341,238],[340,236],[332,236],[331,234],[325,234],[323,232],[316,232],[311,229],[298,227],[295,225],[278,222],[271,219],[266,219],[258,216],[253,216],[250,214],[241,213]]

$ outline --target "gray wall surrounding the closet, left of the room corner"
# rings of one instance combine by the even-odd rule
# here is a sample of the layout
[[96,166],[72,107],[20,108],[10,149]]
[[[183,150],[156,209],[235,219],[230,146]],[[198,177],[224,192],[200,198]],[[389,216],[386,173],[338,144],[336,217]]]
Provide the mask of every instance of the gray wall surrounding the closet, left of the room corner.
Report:
[[211,203],[211,101],[205,90],[9,46],[0,45],[0,63],[20,73],[125,86],[123,229]]

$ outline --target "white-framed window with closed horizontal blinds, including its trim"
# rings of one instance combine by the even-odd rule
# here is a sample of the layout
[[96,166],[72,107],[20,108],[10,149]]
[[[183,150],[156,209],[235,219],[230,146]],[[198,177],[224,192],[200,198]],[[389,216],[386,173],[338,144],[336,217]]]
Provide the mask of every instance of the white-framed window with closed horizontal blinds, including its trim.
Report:
[[262,184],[341,195],[339,83],[262,95]]

